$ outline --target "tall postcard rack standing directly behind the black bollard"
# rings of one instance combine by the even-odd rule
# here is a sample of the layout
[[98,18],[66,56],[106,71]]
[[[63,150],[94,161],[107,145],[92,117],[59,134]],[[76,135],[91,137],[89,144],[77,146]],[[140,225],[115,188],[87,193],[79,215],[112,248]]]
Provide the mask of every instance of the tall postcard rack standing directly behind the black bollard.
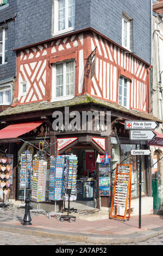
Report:
[[[32,154],[30,151],[25,151],[21,154],[21,172],[20,172],[20,188],[24,190],[24,202],[26,199],[26,190],[30,190],[31,182],[31,171],[32,171]],[[20,207],[25,206],[26,204],[19,204]]]

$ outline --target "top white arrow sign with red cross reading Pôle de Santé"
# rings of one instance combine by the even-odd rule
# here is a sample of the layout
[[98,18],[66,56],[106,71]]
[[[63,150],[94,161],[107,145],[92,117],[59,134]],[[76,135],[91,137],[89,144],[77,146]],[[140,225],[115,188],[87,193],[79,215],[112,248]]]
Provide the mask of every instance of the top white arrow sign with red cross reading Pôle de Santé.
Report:
[[155,121],[125,121],[125,129],[152,129],[158,127],[158,123]]

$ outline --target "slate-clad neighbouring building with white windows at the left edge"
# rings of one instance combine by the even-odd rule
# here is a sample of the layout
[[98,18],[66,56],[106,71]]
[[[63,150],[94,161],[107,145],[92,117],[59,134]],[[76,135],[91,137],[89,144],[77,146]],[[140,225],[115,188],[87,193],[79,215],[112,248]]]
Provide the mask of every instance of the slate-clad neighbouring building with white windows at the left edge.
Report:
[[15,44],[16,0],[0,1],[0,110],[12,103],[16,77]]

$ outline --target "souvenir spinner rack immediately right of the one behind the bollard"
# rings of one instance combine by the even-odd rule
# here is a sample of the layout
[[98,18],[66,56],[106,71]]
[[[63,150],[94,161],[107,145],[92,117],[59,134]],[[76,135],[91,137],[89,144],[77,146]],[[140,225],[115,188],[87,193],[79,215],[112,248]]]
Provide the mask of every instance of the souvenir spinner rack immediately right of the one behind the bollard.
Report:
[[34,160],[33,161],[33,176],[32,176],[32,201],[37,203],[36,210],[30,210],[30,212],[42,212],[46,215],[46,211],[39,209],[39,202],[45,201],[46,193],[46,172],[47,161],[46,160]]

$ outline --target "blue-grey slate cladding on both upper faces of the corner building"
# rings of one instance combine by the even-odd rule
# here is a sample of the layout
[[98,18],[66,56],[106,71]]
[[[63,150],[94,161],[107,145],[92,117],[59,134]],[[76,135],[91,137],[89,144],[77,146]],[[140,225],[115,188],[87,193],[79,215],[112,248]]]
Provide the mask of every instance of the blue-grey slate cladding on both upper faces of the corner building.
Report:
[[[15,48],[52,38],[53,0],[17,0]],[[133,51],[151,62],[151,0],[76,0],[75,31],[92,27],[121,45],[122,11],[133,18]]]

